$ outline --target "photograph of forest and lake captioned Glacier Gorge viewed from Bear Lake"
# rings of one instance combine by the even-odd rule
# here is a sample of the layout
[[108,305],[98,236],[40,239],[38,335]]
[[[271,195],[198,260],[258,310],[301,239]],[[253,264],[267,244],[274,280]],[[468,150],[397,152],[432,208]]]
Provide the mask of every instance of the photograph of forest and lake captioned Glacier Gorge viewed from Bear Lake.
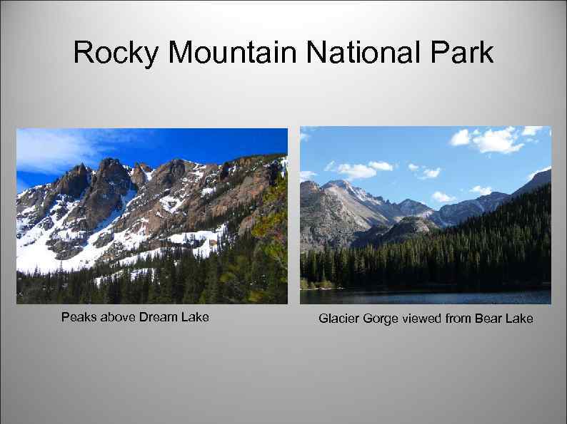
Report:
[[301,304],[551,304],[551,128],[300,138]]

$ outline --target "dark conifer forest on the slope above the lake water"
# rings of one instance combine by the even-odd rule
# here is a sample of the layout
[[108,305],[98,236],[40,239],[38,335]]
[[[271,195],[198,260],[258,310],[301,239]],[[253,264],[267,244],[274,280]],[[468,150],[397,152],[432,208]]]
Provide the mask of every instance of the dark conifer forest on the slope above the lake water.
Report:
[[526,193],[456,227],[405,242],[301,254],[302,287],[465,290],[551,281],[551,185]]

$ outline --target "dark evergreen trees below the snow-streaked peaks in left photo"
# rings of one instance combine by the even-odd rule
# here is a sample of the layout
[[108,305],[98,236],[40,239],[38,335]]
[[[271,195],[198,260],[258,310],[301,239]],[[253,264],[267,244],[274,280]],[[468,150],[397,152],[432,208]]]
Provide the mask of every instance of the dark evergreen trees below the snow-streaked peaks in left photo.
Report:
[[[17,273],[18,303],[31,304],[243,304],[286,303],[281,269],[256,249],[250,234],[207,258],[191,245],[169,246],[123,267],[76,272]],[[224,247],[221,247],[224,246]],[[99,277],[100,275],[108,275]]]

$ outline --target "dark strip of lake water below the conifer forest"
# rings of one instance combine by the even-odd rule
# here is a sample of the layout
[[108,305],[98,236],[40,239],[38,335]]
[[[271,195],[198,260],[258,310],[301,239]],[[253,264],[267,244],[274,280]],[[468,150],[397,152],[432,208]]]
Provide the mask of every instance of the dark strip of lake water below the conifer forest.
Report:
[[388,293],[368,290],[302,290],[301,304],[551,304],[551,288],[498,293]]

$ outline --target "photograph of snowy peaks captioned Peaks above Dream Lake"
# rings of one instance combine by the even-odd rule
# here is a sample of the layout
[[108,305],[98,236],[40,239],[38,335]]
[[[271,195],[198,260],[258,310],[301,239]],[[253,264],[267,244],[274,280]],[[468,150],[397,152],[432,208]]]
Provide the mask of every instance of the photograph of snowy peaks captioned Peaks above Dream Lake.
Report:
[[19,304],[286,304],[286,129],[21,129]]

